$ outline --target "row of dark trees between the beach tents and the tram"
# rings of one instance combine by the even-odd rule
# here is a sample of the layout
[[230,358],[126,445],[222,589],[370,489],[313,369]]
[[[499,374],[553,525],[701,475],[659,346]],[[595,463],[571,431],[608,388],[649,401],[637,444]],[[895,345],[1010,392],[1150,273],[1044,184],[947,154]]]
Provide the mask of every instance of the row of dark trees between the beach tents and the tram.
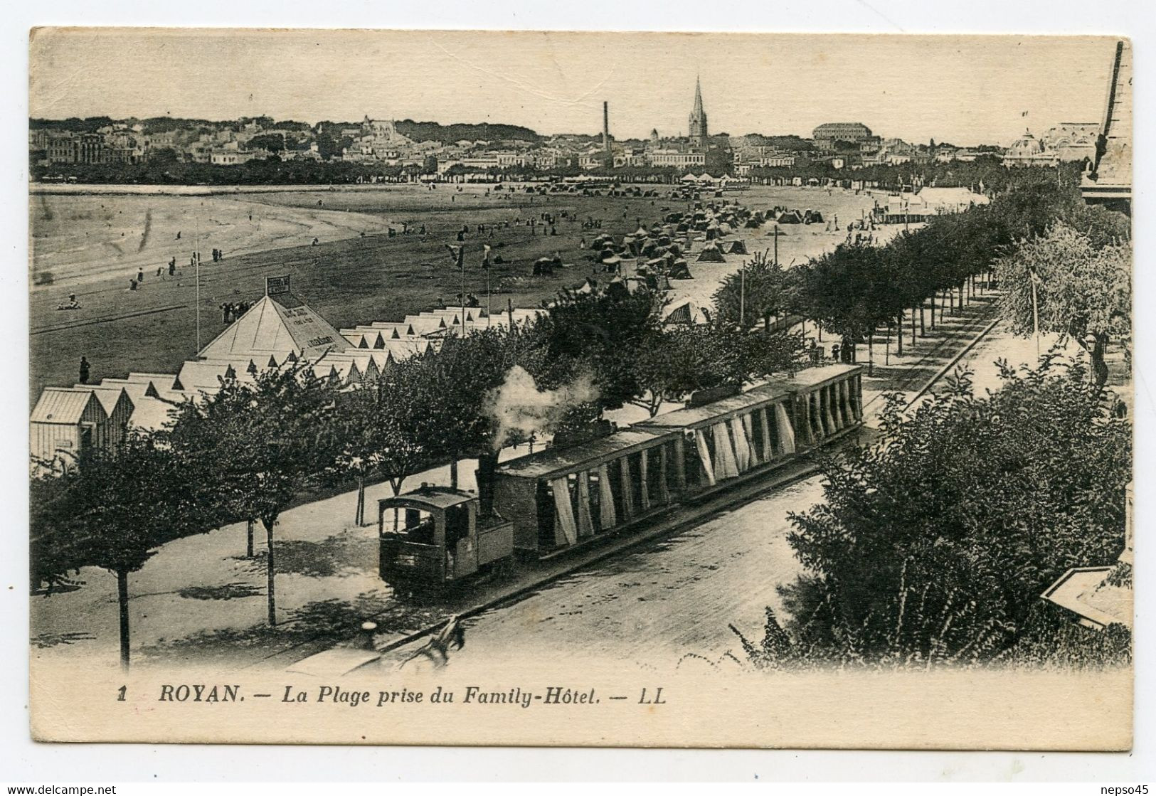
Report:
[[[336,389],[309,363],[225,380],[180,404],[164,431],[131,432],[62,476],[34,476],[31,587],[49,595],[79,586],[82,567],[114,573],[127,667],[131,573],[170,540],[244,522],[249,556],[254,528],[265,530],[273,626],[277,521],[319,490],[354,482],[363,525],[368,483],[387,481],[398,493],[444,462],[455,482],[457,462],[477,459],[484,509],[503,446],[540,433],[578,440],[605,410],[638,403],[654,414],[695,389],[739,388],[798,366],[794,335],[726,322],[668,329],[661,310],[646,290],[565,293],[532,323],[450,337],[439,352],[392,364],[358,389]],[[495,406],[526,379],[531,395],[514,395],[526,406]]]

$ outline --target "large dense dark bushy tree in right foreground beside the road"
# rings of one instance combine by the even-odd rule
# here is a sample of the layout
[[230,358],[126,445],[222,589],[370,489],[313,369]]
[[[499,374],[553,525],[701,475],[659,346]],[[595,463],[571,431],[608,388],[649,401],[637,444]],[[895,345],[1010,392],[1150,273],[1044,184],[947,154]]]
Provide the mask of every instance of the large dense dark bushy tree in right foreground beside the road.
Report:
[[1040,592],[1124,546],[1131,425],[1079,364],[969,374],[882,437],[823,466],[825,501],[791,516],[807,574],[784,592],[809,657],[933,665],[992,660],[1031,626]]

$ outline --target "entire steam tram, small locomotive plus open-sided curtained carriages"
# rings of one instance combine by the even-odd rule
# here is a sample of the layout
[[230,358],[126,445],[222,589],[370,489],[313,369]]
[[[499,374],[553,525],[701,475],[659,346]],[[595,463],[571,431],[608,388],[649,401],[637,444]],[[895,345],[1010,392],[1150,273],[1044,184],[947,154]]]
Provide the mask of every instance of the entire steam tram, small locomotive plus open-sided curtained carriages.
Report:
[[769,471],[861,424],[862,367],[828,365],[506,461],[492,475],[497,511],[480,513],[472,492],[423,485],[378,504],[381,576],[449,583],[516,550],[549,558]]

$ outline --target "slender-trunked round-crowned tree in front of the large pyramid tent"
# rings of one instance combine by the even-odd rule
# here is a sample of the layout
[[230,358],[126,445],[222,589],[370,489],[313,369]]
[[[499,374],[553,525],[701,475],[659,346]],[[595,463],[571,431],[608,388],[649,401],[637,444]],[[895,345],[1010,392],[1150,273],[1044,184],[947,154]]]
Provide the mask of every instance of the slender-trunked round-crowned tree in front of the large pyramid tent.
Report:
[[269,625],[276,625],[273,528],[289,504],[334,460],[335,390],[302,362],[221,389],[184,407],[171,439],[201,464],[214,511],[260,520],[266,536]]

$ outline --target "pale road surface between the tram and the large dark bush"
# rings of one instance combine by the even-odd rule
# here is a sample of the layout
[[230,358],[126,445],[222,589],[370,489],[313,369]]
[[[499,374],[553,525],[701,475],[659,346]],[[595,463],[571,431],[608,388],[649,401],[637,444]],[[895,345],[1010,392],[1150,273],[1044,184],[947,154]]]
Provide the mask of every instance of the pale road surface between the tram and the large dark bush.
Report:
[[[818,477],[796,482],[481,613],[467,620],[468,642],[454,663],[512,648],[660,668],[688,653],[711,661],[741,654],[728,623],[762,638],[764,608],[781,609],[776,587],[801,571],[787,543],[787,513],[821,498]],[[388,660],[409,654],[402,648]]]

